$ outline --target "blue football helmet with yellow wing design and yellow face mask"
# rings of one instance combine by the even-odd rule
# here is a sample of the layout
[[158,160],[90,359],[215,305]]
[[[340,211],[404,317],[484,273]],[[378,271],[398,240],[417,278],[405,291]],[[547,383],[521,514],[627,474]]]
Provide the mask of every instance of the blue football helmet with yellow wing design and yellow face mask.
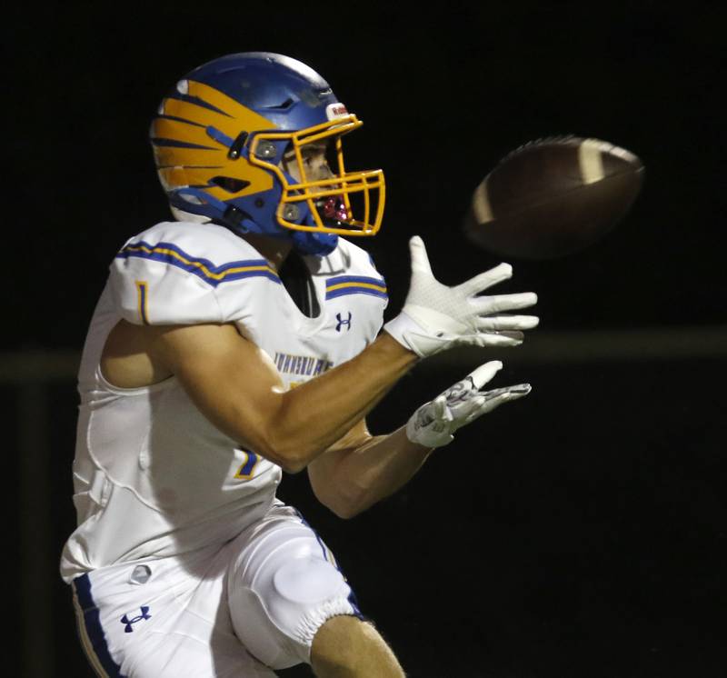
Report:
[[[344,165],[342,138],[361,125],[309,66],[245,52],[185,75],[164,98],[150,135],[175,213],[327,254],[338,234],[373,235],[381,226],[383,172]],[[321,144],[330,176],[311,179],[305,148]],[[297,163],[297,177],[285,171],[284,155]]]

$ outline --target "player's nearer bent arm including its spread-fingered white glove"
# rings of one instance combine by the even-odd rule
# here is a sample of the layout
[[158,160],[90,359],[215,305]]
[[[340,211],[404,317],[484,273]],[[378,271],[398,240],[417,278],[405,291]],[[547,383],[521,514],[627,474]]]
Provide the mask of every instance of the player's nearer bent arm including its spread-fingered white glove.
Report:
[[412,283],[402,313],[361,354],[284,392],[274,364],[232,324],[148,328],[154,364],[174,374],[194,404],[239,444],[296,472],[368,414],[416,362],[455,345],[514,345],[532,293],[478,293],[510,277],[507,264],[455,287],[438,283],[420,238],[413,238]]

